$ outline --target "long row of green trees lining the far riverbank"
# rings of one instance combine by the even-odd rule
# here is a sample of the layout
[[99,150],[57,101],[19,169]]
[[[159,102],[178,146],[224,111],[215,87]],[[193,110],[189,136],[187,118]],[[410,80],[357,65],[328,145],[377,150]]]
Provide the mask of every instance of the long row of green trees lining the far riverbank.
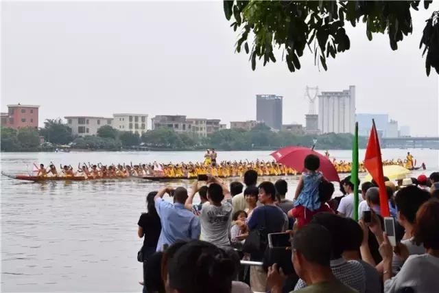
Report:
[[[40,136],[45,143],[40,145]],[[217,150],[274,150],[287,145],[302,145],[311,147],[313,139],[317,139],[316,148],[320,150],[352,148],[352,134],[320,134],[298,135],[289,131],[273,132],[258,124],[252,130],[224,129],[200,137],[195,132],[175,132],[171,128],[158,128],[142,134],[130,131],[119,131],[111,126],[102,126],[97,135],[73,137],[71,129],[60,120],[47,120],[45,127],[34,128],[1,128],[1,150],[37,151],[54,150],[60,145],[69,144],[73,149],[84,150],[121,150],[121,149],[151,149],[151,150],[202,150],[215,148]],[[366,138],[359,138],[360,148],[366,148]]]

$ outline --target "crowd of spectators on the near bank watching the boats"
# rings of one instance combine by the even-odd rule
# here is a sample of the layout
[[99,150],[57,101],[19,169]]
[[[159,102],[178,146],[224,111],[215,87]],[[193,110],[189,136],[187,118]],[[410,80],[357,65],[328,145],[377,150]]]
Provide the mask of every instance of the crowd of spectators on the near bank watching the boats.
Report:
[[[438,292],[438,172],[403,185],[385,178],[392,246],[376,183],[360,185],[356,207],[350,176],[336,197],[316,158],[305,159],[305,168],[294,200],[287,199],[287,181],[258,184],[252,170],[244,185],[209,177],[189,192],[163,187],[148,194],[138,222],[143,292]],[[289,234],[280,254],[268,244],[272,233]]]

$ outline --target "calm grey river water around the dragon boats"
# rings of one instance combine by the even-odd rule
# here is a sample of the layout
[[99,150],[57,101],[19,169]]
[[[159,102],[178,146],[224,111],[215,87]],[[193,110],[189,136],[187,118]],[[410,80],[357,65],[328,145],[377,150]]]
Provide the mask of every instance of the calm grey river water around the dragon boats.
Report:
[[[407,150],[384,149],[383,159]],[[413,150],[427,175],[438,150]],[[1,171],[32,172],[33,163],[78,165],[201,161],[203,152],[2,153]],[[219,152],[218,160],[270,160],[270,152]],[[351,151],[331,151],[351,161]],[[359,157],[364,158],[364,150]],[[420,171],[414,172],[414,176]],[[295,178],[287,178],[291,197]],[[28,183],[1,176],[1,292],[140,292],[137,221],[145,195],[165,183],[146,180]],[[170,185],[189,187],[182,180]]]

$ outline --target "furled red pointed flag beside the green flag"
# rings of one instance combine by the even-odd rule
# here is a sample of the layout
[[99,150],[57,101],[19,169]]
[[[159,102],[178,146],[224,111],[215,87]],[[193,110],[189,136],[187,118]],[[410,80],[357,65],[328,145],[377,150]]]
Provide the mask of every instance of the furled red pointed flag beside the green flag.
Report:
[[381,215],[389,217],[389,203],[387,191],[384,185],[383,175],[383,161],[381,161],[381,149],[379,148],[379,140],[377,128],[375,128],[375,121],[372,119],[372,130],[370,130],[370,137],[368,141],[368,148],[366,149],[366,156],[364,156],[364,167],[368,170],[373,180],[378,184],[379,188],[379,205],[381,207]]

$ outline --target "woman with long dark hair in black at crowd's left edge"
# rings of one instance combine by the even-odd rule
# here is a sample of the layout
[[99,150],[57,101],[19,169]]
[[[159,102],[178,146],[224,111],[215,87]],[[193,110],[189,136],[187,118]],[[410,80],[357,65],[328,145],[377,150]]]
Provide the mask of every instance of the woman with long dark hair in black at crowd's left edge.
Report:
[[157,191],[152,191],[146,196],[147,213],[142,213],[139,222],[139,230],[137,234],[143,237],[143,292],[147,292],[147,284],[145,283],[146,263],[147,259],[156,251],[158,236],[160,236],[162,225],[156,207],[154,205],[154,196]]

